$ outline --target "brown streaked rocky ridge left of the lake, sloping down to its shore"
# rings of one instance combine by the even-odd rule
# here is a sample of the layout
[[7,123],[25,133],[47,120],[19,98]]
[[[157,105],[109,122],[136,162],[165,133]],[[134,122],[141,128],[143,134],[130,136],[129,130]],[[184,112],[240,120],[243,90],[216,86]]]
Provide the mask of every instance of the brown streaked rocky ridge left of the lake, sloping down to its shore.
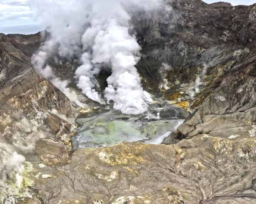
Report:
[[[19,37],[16,38],[19,40]],[[26,39],[21,41],[30,45]],[[28,134],[47,129],[58,139],[64,139],[64,135],[75,128],[76,112],[68,98],[40,77],[30,65],[30,58],[12,43],[12,38],[1,34],[1,73],[4,72],[0,87],[2,137],[12,141],[16,132]]]

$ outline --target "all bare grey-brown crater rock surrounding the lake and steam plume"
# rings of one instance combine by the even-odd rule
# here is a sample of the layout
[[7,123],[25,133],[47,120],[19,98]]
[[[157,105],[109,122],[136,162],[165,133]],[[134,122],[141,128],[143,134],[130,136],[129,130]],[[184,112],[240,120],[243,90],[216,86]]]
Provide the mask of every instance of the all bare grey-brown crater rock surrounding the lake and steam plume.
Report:
[[[50,133],[37,141],[36,157],[27,156],[33,198],[19,202],[256,203],[255,12],[256,4],[201,0],[174,0],[152,13],[135,12],[144,88],[193,111],[164,145],[73,150],[61,144],[72,132],[76,112],[31,68],[29,57],[44,38],[1,34],[1,139],[12,143],[13,136]],[[163,62],[172,69],[167,87],[160,89]],[[64,68],[72,73],[72,66],[66,62]],[[65,72],[55,68],[59,75]],[[20,128],[24,124],[27,128]]]

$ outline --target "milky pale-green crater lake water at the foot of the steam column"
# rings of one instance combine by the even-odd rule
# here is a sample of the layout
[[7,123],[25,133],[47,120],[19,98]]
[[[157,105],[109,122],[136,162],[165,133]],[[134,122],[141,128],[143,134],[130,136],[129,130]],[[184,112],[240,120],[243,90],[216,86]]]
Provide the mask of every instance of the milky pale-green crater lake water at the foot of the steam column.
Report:
[[90,118],[80,118],[78,134],[72,137],[73,146],[108,147],[124,141],[161,144],[183,120],[161,120],[158,117],[152,119],[110,111]]

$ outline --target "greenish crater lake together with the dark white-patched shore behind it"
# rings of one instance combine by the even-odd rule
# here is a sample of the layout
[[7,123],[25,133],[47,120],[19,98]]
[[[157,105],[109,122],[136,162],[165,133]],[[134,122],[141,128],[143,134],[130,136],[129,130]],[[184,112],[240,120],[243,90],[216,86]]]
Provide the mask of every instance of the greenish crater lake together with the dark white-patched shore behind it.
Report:
[[108,147],[125,141],[161,144],[187,116],[186,111],[165,101],[151,104],[148,111],[140,115],[107,109],[103,113],[81,116],[77,120],[78,134],[71,140],[74,148]]

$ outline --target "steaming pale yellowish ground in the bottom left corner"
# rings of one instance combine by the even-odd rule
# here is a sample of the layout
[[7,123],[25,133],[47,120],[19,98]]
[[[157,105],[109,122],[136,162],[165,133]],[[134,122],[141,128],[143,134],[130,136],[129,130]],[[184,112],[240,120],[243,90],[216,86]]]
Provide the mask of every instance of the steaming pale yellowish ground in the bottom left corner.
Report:
[[0,141],[0,202],[7,194],[29,194],[28,189],[23,186],[26,162],[24,155],[31,154],[35,149],[36,141],[46,138],[47,135],[41,131],[26,136],[21,135],[22,129],[29,132],[30,128],[34,128],[25,118],[17,122],[16,127],[17,132],[13,135],[12,144]]

